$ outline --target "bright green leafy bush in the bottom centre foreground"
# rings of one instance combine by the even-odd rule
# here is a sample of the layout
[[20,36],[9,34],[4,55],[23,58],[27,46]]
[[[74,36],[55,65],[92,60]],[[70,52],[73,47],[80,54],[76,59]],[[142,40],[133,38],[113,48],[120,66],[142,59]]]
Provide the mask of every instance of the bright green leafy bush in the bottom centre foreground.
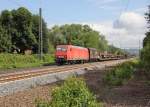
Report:
[[37,107],[102,107],[90,93],[82,79],[69,78],[52,92],[48,103],[37,102]]

